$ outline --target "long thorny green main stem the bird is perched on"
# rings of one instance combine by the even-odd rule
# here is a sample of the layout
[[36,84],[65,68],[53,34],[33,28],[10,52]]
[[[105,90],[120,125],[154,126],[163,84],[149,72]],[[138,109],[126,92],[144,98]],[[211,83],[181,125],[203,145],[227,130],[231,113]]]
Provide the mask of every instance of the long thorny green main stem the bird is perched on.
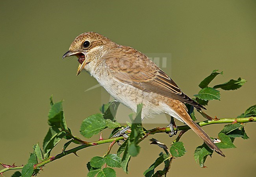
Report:
[[[224,119],[219,119],[219,120],[205,120],[203,122],[198,122],[197,124],[199,126],[207,126],[210,124],[227,124],[227,123],[233,123],[233,122],[237,122],[237,123],[247,123],[247,122],[256,122],[256,117],[245,117],[245,118],[224,118]],[[184,125],[184,126],[178,126],[176,128],[177,131],[180,130],[189,130],[189,126]],[[154,128],[152,130],[147,130],[148,135],[154,135],[155,133],[163,133],[163,132],[168,132],[170,131],[169,127],[166,128]],[[146,136],[147,137],[147,136]],[[145,138],[146,138],[145,137]],[[99,144],[105,144],[105,143],[111,143],[113,141],[117,142],[119,140],[124,139],[124,137],[116,137],[116,138],[110,138],[110,139],[103,139],[103,140],[99,140],[99,141],[95,141],[95,142],[88,142],[88,144],[83,144],[80,145],[76,148],[72,148],[70,150],[67,151],[63,151],[62,153],[56,155],[56,156],[50,156],[47,159],[44,159],[43,162],[40,162],[38,164],[35,164],[34,169],[36,168],[40,168],[42,166],[44,166],[45,164],[48,164],[52,161],[55,161],[57,159],[60,159],[61,157],[64,157],[70,153],[75,153],[78,150],[82,150],[84,148],[90,147],[90,146],[96,146]],[[8,171],[8,170],[20,170],[22,169],[24,166],[15,166],[15,167],[10,167],[10,168],[4,168],[2,170],[0,170],[0,174]]]

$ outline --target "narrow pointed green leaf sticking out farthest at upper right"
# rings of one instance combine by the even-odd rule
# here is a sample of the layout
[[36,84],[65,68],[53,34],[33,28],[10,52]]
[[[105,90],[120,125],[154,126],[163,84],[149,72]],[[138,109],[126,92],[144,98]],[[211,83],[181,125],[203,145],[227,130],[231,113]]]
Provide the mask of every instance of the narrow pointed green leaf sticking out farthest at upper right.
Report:
[[225,82],[223,84],[216,85],[213,88],[215,89],[221,88],[223,90],[236,90],[236,89],[239,89],[241,86],[243,86],[245,82],[247,82],[245,79],[239,77],[237,80],[231,79],[230,81]]

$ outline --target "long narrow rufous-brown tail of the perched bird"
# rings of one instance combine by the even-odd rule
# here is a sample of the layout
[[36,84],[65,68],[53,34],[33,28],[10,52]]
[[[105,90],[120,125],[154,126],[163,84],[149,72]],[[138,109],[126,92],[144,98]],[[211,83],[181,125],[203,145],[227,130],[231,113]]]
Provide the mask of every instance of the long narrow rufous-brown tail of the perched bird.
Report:
[[[191,117],[187,114],[185,119],[182,119],[195,133],[211,148],[212,150],[216,151],[219,155],[225,157],[224,153],[214,144],[211,138],[205,133],[205,131],[196,123],[194,122]],[[182,116],[180,116],[182,117]]]

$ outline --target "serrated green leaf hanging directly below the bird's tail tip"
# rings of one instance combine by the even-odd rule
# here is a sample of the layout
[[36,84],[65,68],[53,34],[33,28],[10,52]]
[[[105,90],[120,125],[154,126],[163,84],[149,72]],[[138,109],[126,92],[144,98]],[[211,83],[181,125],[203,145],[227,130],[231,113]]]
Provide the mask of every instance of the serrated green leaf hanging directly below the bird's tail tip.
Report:
[[211,154],[213,153],[213,150],[211,150],[205,143],[202,144],[201,146],[198,146],[195,150],[194,153],[194,158],[195,161],[198,163],[201,168],[204,167],[204,162],[206,161],[206,158],[208,157],[208,155],[211,156]]

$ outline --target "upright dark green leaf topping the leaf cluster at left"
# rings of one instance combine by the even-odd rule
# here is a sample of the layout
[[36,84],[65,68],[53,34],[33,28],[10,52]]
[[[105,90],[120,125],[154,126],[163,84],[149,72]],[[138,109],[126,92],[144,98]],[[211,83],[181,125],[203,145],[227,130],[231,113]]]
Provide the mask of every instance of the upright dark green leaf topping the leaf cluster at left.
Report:
[[48,113],[48,124],[63,130],[68,130],[62,108],[62,101],[56,102],[52,105],[52,108]]

